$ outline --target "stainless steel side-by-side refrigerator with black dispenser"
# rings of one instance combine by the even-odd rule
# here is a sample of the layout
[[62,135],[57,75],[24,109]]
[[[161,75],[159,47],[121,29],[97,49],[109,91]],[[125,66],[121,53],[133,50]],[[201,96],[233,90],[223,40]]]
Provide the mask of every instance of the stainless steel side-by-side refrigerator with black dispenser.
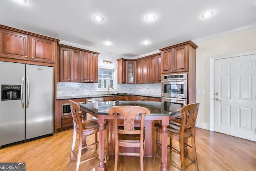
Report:
[[0,61],[0,147],[53,133],[53,67]]

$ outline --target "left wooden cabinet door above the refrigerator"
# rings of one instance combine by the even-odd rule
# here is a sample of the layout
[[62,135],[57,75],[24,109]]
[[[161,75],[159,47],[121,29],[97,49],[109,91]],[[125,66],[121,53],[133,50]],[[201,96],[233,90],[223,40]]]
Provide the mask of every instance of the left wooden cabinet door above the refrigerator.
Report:
[[28,59],[29,35],[0,29],[0,56],[18,60]]

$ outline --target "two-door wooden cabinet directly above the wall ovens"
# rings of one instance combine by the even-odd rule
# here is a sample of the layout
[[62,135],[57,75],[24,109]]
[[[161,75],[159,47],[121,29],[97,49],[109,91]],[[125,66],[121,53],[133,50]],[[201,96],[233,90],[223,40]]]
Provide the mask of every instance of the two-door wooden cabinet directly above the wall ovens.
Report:
[[[162,56],[162,74],[188,72],[190,63],[194,65],[196,44],[191,41],[160,49]],[[190,62],[191,61],[191,62]]]

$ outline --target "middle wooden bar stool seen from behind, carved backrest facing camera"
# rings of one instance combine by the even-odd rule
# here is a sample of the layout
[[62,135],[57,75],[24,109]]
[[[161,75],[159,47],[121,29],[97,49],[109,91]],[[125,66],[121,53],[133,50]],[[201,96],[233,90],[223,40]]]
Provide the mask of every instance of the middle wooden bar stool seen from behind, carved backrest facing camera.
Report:
[[[144,170],[144,115],[150,115],[150,111],[140,106],[114,106],[108,110],[110,115],[114,115],[115,131],[115,171],[118,170],[118,156],[139,156],[140,170]],[[118,114],[122,116],[122,124],[118,124]],[[140,126],[134,124],[135,117],[141,114]],[[139,153],[119,152],[119,147],[139,147]]]

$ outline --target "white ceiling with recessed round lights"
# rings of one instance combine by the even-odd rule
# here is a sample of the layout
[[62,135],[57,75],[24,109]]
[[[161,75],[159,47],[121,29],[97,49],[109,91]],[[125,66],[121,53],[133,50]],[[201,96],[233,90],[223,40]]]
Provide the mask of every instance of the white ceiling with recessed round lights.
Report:
[[[136,58],[188,40],[256,25],[255,0],[0,0],[0,24]],[[212,10],[209,18],[202,13]],[[146,15],[155,14],[152,22]],[[104,17],[94,21],[95,15]],[[144,40],[150,44],[144,45]],[[107,46],[105,41],[112,42]]]

